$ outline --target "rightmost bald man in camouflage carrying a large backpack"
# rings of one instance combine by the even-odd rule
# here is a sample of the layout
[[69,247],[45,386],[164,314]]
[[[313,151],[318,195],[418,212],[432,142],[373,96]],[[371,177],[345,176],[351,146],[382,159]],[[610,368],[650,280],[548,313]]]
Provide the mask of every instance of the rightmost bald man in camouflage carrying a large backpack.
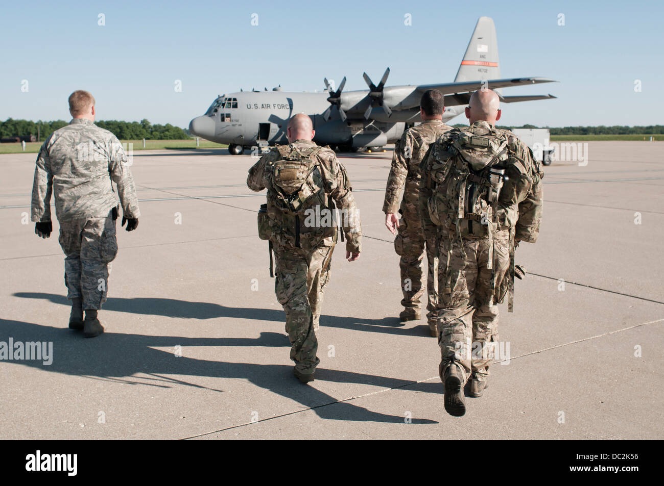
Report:
[[446,133],[424,156],[428,192],[420,194],[420,207],[429,209],[443,233],[438,371],[445,409],[454,416],[465,414],[467,379],[470,396],[481,396],[487,386],[498,340],[497,304],[509,292],[511,312],[514,249],[519,241],[537,241],[544,176],[522,141],[495,128],[501,110],[494,91],[475,91],[465,115],[469,128]]

